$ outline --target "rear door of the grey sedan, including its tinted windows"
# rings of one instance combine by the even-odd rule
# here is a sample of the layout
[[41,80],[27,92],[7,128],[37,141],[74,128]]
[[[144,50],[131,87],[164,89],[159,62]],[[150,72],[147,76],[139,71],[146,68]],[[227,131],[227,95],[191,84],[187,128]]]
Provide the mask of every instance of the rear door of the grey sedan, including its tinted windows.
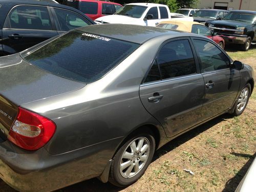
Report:
[[139,94],[145,109],[172,137],[198,123],[204,96],[188,38],[168,41],[160,48]]

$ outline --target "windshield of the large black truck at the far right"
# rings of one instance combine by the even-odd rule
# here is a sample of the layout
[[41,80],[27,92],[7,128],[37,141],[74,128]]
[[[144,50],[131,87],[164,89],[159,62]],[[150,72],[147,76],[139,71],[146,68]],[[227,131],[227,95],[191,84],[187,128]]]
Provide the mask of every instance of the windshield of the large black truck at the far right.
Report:
[[224,19],[237,20],[239,22],[253,23],[256,20],[254,14],[242,13],[242,12],[229,12]]

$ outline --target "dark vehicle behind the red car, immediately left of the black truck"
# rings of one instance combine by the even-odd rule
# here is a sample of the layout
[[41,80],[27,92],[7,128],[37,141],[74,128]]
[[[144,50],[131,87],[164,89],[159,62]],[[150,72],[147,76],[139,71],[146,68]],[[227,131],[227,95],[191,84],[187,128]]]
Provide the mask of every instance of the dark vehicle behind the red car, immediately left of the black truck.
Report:
[[228,13],[227,10],[221,9],[200,9],[194,15],[194,22],[199,22],[201,24],[206,24],[211,20],[221,20]]

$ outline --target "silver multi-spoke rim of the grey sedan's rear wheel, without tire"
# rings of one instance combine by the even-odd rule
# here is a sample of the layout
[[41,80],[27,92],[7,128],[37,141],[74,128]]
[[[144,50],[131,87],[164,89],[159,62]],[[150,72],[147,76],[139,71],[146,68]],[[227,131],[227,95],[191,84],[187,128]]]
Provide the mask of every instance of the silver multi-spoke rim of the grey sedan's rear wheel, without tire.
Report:
[[145,165],[150,153],[150,141],[145,137],[134,139],[124,150],[119,164],[120,174],[131,178]]

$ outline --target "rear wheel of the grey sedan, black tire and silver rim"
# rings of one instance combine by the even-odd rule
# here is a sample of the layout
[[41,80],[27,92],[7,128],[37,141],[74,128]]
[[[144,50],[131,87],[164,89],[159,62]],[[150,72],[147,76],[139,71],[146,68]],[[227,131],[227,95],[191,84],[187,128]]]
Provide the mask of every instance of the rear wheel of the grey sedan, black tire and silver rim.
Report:
[[132,136],[113,157],[109,182],[118,187],[133,184],[144,174],[154,152],[155,139],[152,133]]

